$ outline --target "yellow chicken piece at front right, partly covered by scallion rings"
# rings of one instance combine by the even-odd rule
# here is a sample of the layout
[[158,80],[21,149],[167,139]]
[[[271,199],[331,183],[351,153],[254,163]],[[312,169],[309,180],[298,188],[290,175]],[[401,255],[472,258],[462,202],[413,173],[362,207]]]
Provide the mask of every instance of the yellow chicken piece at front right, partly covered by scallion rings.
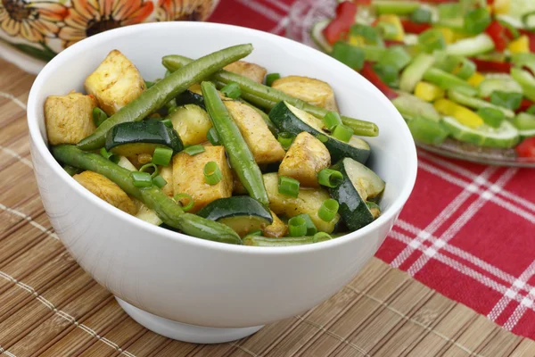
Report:
[[330,222],[321,220],[317,215],[322,203],[331,198],[325,189],[300,188],[299,195],[292,197],[278,192],[278,175],[276,172],[264,174],[263,179],[266,191],[268,191],[269,209],[288,218],[307,213],[314,225],[316,225],[317,230],[326,233],[333,232],[334,226],[340,220],[340,214],[336,213],[336,216]]

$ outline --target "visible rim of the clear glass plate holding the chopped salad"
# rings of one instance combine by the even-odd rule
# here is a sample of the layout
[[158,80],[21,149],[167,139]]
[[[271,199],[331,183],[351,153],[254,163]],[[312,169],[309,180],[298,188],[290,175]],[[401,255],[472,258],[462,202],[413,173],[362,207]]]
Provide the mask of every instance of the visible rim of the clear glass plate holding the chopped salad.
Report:
[[[296,1],[289,12],[286,36],[305,45],[318,48],[310,37],[310,29],[317,21],[333,18],[336,4],[335,0]],[[481,147],[463,143],[453,138],[446,139],[440,145],[426,145],[417,141],[416,145],[435,154],[469,162],[535,168],[535,160],[517,157],[514,149]]]

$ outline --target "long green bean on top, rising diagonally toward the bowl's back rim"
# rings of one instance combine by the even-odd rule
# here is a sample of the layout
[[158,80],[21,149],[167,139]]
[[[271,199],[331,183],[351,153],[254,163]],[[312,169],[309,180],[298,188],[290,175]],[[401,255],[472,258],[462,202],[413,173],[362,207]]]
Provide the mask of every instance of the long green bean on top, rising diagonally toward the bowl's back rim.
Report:
[[210,77],[227,64],[251,54],[251,51],[251,44],[232,46],[188,63],[180,71],[174,71],[173,74],[161,79],[139,95],[136,100],[111,115],[93,134],[82,139],[78,147],[83,150],[95,150],[102,147],[108,130],[115,125],[125,121],[143,120],[194,83]]

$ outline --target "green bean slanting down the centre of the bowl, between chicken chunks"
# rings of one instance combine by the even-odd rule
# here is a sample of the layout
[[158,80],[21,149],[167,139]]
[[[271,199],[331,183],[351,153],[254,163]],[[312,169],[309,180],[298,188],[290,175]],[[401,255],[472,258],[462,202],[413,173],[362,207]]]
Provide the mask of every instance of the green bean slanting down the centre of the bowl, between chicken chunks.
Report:
[[210,119],[219,137],[219,142],[225,146],[230,166],[235,170],[243,187],[252,198],[268,206],[268,192],[264,186],[262,172],[254,161],[251,150],[240,133],[240,129],[230,118],[225,104],[218,95],[218,90],[210,82],[202,82],[202,96],[204,106],[210,114]]

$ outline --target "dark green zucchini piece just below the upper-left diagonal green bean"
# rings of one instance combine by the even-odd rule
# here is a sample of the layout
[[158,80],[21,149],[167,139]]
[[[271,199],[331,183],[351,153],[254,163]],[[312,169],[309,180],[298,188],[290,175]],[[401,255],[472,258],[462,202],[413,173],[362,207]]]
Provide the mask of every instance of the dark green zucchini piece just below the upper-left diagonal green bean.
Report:
[[143,120],[120,123],[108,132],[106,150],[131,144],[165,145],[178,153],[184,149],[182,140],[175,129],[160,120]]

